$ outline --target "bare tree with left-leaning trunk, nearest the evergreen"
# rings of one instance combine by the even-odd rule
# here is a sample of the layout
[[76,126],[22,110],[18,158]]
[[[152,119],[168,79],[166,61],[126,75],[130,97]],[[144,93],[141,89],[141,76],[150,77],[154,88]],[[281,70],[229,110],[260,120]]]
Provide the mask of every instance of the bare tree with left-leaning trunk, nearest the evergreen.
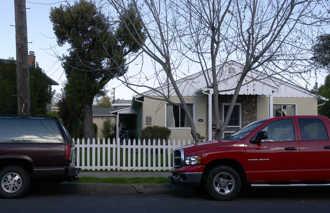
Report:
[[[196,142],[199,142],[200,139],[197,136],[192,115],[176,82],[178,75],[180,75],[178,67],[182,63],[180,61],[180,53],[176,51],[177,29],[182,27],[182,23],[180,23],[179,14],[175,11],[175,4],[167,0],[158,2],[152,0],[141,2],[136,0],[130,0],[128,2],[123,0],[108,0],[108,2],[115,8],[121,20],[126,19],[122,23],[127,23],[127,29],[133,21],[130,19],[127,20],[128,17],[123,14],[127,14],[130,11],[130,7],[133,7],[137,11],[135,19],[142,23],[148,42],[143,43],[142,38],[135,38],[135,42],[140,45],[142,53],[150,57],[154,63],[153,77],[147,77],[141,70],[141,73],[137,74],[138,79],[123,75],[123,80],[121,81],[138,94],[141,94],[141,92],[136,88],[145,87],[156,94],[156,96],[149,98],[166,101],[182,108],[189,120],[191,135]],[[132,30],[130,30],[130,35],[132,37],[134,35]],[[147,78],[140,78],[140,76]],[[153,81],[153,83],[150,84],[150,81]],[[171,99],[172,94],[178,96],[180,103]]]

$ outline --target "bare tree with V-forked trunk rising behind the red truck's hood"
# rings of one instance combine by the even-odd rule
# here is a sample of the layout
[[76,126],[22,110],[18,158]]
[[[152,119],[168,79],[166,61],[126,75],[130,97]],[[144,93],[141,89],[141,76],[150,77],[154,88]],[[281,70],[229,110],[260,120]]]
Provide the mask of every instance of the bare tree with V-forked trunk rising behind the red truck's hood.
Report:
[[[302,78],[311,69],[308,62],[312,57],[311,44],[328,25],[325,4],[328,3],[304,0],[179,2],[180,14],[189,23],[187,31],[179,37],[185,44],[182,53],[201,65],[207,86],[214,91],[216,139],[222,136],[251,70],[292,79]],[[220,128],[218,81],[224,74],[223,65],[229,60],[243,68],[235,74],[239,80]]]

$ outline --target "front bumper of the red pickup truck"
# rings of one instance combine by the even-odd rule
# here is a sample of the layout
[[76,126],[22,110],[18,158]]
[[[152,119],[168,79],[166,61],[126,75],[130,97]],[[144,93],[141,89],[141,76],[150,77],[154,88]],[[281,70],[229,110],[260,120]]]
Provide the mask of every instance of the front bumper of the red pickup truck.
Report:
[[198,187],[201,184],[202,172],[172,173],[169,179],[174,185]]

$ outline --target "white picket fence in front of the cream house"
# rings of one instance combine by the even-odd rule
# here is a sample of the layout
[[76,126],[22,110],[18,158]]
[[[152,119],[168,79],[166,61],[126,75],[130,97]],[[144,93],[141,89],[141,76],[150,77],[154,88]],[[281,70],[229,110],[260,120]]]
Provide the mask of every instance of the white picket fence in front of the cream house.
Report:
[[[169,170],[173,167],[173,150],[188,144],[190,140],[165,140],[151,143],[140,139],[136,141],[121,141],[118,139],[75,140],[77,167],[87,170]],[[112,142],[112,143],[111,143]],[[161,154],[157,154],[161,153]]]

